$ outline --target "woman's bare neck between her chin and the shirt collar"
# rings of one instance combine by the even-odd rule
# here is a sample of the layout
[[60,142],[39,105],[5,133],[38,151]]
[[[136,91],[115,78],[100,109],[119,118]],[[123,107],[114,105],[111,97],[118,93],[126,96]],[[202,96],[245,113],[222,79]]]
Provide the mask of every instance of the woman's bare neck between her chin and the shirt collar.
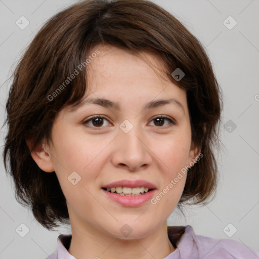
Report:
[[87,225],[71,222],[72,239],[68,252],[76,258],[154,259],[164,258],[175,250],[167,235],[167,223],[146,237],[119,239]]

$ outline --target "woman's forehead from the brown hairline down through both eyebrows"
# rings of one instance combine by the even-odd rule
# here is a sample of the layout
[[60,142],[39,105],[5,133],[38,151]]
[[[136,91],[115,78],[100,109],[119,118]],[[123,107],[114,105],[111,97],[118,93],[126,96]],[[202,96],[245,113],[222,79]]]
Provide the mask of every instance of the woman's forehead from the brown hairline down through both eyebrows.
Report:
[[98,46],[92,51],[96,49],[100,54],[87,66],[87,91],[71,112],[89,104],[121,110],[132,105],[150,109],[172,103],[186,113],[185,90],[166,77],[159,56],[133,55],[112,46]]

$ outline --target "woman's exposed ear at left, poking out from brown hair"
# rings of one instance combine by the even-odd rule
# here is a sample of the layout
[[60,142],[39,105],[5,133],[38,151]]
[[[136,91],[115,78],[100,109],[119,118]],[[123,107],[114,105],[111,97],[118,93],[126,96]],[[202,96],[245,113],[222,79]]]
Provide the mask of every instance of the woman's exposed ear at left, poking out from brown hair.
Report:
[[26,144],[30,150],[31,157],[36,162],[38,167],[45,172],[53,172],[54,167],[52,163],[52,156],[46,149],[47,145],[45,140],[39,141],[34,148],[32,139],[26,140]]

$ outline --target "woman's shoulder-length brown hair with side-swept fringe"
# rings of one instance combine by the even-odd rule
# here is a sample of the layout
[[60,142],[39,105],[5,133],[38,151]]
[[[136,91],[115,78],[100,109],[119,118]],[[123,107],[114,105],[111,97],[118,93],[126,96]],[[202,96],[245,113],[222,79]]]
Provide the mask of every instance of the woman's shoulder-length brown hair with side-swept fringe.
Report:
[[[14,179],[17,201],[30,206],[49,230],[59,227],[58,222],[69,223],[66,199],[56,174],[37,166],[25,140],[33,138],[35,145],[51,140],[56,114],[80,103],[87,90],[87,66],[55,98],[50,96],[101,44],[159,55],[167,78],[187,91],[192,141],[203,157],[188,170],[178,206],[190,199],[204,204],[217,186],[212,148],[219,147],[221,90],[199,40],[150,1],[82,1],[56,14],[36,34],[13,73],[6,105],[5,168]],[[176,68],[185,73],[180,81],[171,75]]]

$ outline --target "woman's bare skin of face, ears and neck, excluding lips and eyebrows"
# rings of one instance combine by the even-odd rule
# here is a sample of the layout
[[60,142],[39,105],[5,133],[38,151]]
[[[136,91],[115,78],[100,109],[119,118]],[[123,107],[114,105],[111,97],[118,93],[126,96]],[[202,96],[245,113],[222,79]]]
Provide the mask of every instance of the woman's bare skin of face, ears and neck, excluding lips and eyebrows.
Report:
[[[38,166],[55,171],[67,200],[72,240],[69,253],[76,258],[164,258],[175,250],[167,236],[167,218],[182,195],[186,175],[156,204],[138,207],[119,205],[101,188],[115,181],[146,180],[160,193],[178,172],[195,162],[200,150],[191,142],[191,125],[186,91],[162,79],[154,67],[127,51],[100,46],[100,54],[89,64],[88,98],[118,102],[121,110],[88,104],[71,111],[61,110],[53,124],[52,142],[41,143],[31,152]],[[141,56],[156,67],[158,57]],[[177,99],[184,111],[173,103],[144,110],[144,104],[157,99]],[[93,115],[105,117],[103,124]],[[164,115],[167,119],[156,122]],[[124,133],[119,125],[127,119],[133,125]],[[88,127],[87,127],[88,125]],[[27,142],[30,146],[30,142]],[[71,172],[81,177],[73,185]],[[133,230],[127,237],[120,228]]]

